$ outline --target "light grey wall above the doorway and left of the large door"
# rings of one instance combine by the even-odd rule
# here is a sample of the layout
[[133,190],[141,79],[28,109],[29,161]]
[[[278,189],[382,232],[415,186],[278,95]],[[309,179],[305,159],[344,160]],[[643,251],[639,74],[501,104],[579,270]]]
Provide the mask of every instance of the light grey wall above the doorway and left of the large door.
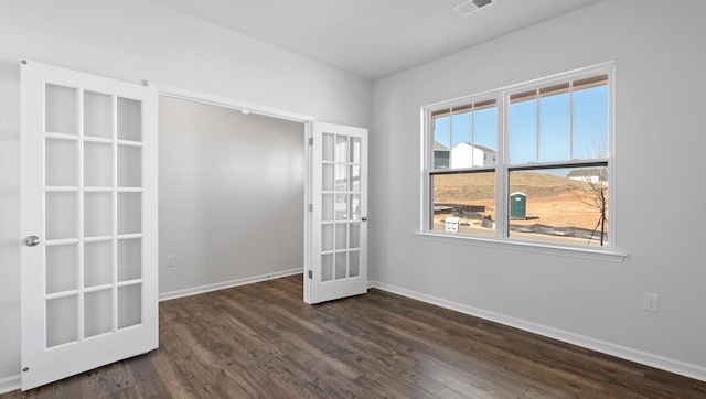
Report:
[[0,391],[20,375],[21,60],[372,126],[371,82],[150,1],[2,0],[0,37]]

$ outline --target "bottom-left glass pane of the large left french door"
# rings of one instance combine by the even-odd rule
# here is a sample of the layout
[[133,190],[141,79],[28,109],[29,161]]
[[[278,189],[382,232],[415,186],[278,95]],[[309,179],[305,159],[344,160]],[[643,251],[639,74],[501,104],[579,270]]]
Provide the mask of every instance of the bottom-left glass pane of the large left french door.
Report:
[[78,296],[69,295],[46,301],[46,347],[78,339]]

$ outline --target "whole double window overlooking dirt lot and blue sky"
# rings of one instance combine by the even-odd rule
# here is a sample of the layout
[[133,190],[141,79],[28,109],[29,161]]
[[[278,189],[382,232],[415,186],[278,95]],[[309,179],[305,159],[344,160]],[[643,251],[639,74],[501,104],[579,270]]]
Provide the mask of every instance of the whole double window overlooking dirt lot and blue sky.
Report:
[[611,248],[612,76],[603,65],[424,108],[422,230]]

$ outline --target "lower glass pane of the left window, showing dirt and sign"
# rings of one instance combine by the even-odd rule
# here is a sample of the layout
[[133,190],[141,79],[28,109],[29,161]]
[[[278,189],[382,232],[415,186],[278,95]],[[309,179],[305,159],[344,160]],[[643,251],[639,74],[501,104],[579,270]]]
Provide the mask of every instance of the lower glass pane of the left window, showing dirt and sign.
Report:
[[430,230],[495,235],[495,172],[436,174],[431,180]]

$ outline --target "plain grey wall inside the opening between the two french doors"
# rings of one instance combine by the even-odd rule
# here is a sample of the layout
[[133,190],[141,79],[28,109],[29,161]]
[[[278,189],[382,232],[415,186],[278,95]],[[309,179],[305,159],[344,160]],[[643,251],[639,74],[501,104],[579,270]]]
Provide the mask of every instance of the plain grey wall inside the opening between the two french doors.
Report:
[[301,272],[304,159],[303,123],[160,97],[160,295]]

